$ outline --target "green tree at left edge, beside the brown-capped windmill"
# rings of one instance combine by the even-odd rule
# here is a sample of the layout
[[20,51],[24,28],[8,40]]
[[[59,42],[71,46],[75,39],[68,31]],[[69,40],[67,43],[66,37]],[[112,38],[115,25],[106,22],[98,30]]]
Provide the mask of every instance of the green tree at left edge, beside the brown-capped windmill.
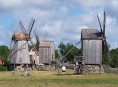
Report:
[[0,60],[6,62],[7,57],[9,56],[9,48],[7,46],[0,46]]

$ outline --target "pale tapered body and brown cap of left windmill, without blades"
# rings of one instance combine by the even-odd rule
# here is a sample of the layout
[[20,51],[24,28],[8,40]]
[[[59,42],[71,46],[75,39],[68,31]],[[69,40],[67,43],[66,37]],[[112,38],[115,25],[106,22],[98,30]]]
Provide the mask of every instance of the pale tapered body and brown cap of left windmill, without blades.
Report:
[[28,43],[27,43],[28,40],[26,40],[25,34],[15,33],[12,36],[12,38],[13,38],[12,40],[14,41],[12,53],[14,53],[14,55],[11,57],[10,63],[11,64],[30,64],[30,58],[28,55]]

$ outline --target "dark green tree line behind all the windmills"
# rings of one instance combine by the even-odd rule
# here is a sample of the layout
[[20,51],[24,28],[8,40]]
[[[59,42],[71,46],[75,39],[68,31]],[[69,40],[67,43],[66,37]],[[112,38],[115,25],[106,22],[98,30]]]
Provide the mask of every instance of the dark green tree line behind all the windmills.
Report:
[[[9,53],[10,53],[10,49],[7,46],[4,45],[0,46],[0,60],[6,62]],[[81,56],[82,55],[81,53],[82,53],[81,48],[78,48],[72,43],[65,44],[61,42],[58,45],[57,49],[55,49],[55,58],[56,60],[62,58],[63,62],[73,62],[75,56]],[[103,55],[103,64],[110,65],[111,67],[118,67],[118,48],[111,49],[109,51],[109,54],[106,53],[105,55]]]

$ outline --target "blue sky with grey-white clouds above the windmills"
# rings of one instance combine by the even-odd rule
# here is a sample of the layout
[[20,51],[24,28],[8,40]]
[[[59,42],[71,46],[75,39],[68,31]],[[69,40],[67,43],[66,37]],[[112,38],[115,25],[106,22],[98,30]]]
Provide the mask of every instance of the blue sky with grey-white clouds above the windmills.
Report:
[[[10,45],[11,36],[21,32],[19,20],[27,28],[33,17],[39,38],[76,44],[81,29],[98,29],[106,11],[106,38],[111,48],[118,47],[118,0],[0,0],[0,45]],[[31,37],[35,42],[32,32]]]

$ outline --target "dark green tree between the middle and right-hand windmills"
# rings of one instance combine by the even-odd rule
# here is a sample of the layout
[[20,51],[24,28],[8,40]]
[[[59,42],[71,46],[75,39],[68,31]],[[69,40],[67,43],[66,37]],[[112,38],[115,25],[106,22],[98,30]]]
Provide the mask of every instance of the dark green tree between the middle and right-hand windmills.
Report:
[[80,55],[81,53],[80,49],[74,46],[72,43],[64,44],[63,42],[61,42],[58,48],[59,53],[62,57],[64,57],[65,62],[73,62],[74,57]]

